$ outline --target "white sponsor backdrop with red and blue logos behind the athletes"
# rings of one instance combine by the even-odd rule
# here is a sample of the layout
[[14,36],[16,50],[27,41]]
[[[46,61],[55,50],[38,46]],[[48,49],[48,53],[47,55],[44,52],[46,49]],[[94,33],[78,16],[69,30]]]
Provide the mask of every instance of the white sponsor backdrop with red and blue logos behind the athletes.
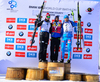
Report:
[[[37,30],[35,44],[32,48],[29,45],[34,29],[34,20],[36,14],[39,13],[39,7],[42,2],[43,0],[0,0],[0,74],[5,74],[7,67],[38,67],[40,28]],[[83,48],[82,51],[76,50],[76,32],[73,29],[72,72],[98,74],[99,5],[99,2],[80,1],[85,48],[86,50],[89,48],[90,52],[86,52]],[[14,8],[11,9],[11,7]],[[91,8],[92,11],[88,12],[88,8]],[[51,22],[55,15],[59,15],[60,20],[63,21],[63,16],[71,14],[71,10],[74,11],[75,20],[77,21],[77,1],[61,0],[59,2],[59,0],[47,0],[42,15],[44,19],[46,12],[49,12],[51,14]],[[71,15],[70,20],[72,20]],[[89,22],[91,23],[90,27],[87,26]],[[19,36],[19,33],[23,34],[23,36]],[[65,50],[66,62],[67,46]],[[50,60],[50,41],[47,59]],[[59,52],[60,59],[61,53]]]

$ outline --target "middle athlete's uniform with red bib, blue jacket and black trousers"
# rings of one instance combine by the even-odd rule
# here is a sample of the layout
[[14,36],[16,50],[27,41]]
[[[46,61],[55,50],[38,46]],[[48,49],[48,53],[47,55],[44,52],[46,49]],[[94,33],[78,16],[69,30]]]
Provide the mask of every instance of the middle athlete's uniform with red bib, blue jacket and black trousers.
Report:
[[[53,22],[52,27],[50,28],[50,33],[51,33],[50,60],[57,61],[59,45],[60,45],[60,38],[62,36],[62,24],[56,21]],[[54,52],[54,49],[55,49],[55,52]]]

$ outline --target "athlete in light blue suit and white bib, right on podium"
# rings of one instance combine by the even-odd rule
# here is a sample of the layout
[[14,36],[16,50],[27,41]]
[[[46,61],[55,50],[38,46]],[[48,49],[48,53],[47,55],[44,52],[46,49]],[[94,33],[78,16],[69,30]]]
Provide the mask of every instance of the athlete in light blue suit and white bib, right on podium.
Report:
[[72,44],[72,37],[73,37],[73,27],[77,26],[77,23],[70,21],[67,15],[64,16],[64,23],[63,23],[63,37],[62,37],[62,44],[61,44],[61,54],[62,59],[60,62],[64,62],[65,56],[65,46],[66,43],[68,45],[68,59],[67,62],[70,63],[71,60],[71,44]]

